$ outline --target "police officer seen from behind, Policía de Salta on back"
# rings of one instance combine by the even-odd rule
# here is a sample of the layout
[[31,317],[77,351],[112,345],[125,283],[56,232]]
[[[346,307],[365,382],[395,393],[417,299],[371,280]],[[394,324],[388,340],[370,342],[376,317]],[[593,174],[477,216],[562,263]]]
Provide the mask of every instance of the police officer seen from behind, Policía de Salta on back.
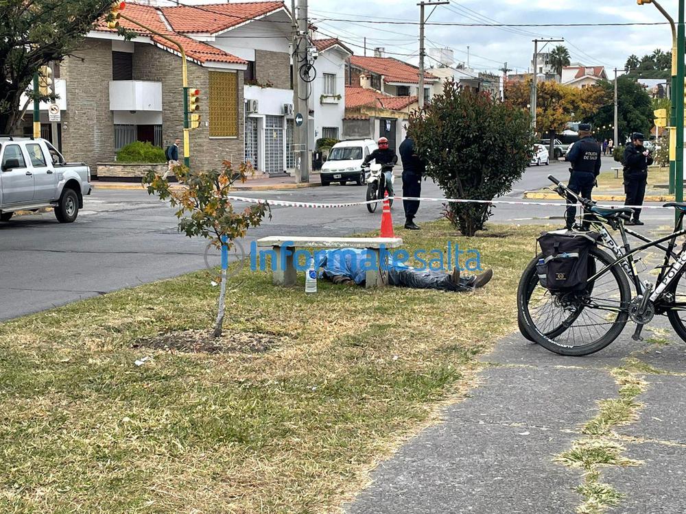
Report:
[[[581,123],[579,125],[580,140],[574,143],[573,147],[565,157],[571,163],[571,175],[569,175],[569,185],[577,195],[591,199],[591,191],[595,185],[595,178],[600,174],[600,145],[598,141],[591,137],[591,125]],[[568,204],[573,204],[567,200]],[[576,217],[576,206],[567,207],[567,229],[571,230]],[[582,223],[583,228],[588,228],[589,222]]]

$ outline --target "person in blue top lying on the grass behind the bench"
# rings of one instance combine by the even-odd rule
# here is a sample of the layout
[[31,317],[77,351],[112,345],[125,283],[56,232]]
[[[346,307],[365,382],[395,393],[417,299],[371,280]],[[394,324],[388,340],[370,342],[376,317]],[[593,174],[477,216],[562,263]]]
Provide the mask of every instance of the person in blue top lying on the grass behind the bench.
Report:
[[[324,268],[324,278],[334,284],[362,285],[366,278],[367,263],[375,261],[375,254],[368,249],[338,248],[322,252],[318,258],[318,267]],[[388,269],[390,285],[414,289],[472,291],[485,286],[493,278],[491,269],[477,276],[462,278],[458,267],[447,273],[432,269],[414,269],[398,262],[389,262],[385,266],[385,269]]]

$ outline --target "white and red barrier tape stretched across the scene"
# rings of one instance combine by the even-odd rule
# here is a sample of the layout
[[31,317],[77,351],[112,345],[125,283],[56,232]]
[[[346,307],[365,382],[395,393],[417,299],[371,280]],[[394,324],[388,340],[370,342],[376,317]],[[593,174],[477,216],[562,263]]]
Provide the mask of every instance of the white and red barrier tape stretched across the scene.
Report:
[[[375,204],[383,202],[383,200],[366,200],[366,201],[348,201],[342,204],[334,204],[327,202],[317,202],[317,201],[291,201],[291,200],[279,200],[279,199],[265,199],[265,198],[250,198],[242,196],[227,196],[226,198],[234,201],[245,201],[250,204],[269,204],[270,206],[282,206],[282,207],[304,207],[304,208],[319,208],[319,209],[331,209],[331,208],[344,208],[344,207],[356,207],[367,204]],[[567,207],[564,201],[553,202],[553,201],[522,201],[522,200],[468,200],[468,199],[458,199],[458,198],[426,198],[426,197],[404,197],[404,196],[393,196],[389,197],[394,200],[412,200],[412,201],[440,201],[444,204],[493,204],[493,205],[520,205],[520,206],[557,206],[557,207]],[[574,206],[576,204],[569,204]],[[633,205],[608,205],[608,204],[596,204],[596,207],[600,208],[617,208],[617,207],[628,207],[633,209],[669,209],[673,210],[673,207],[664,206],[633,206]]]

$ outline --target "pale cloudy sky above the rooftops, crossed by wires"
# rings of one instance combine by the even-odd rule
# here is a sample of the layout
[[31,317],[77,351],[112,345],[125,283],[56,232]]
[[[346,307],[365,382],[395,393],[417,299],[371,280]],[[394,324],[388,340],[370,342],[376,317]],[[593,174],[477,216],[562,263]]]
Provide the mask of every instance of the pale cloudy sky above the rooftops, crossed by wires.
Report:
[[[385,47],[388,56],[418,62],[418,25],[367,25],[350,21],[418,22],[417,0],[309,0],[309,17],[322,33],[339,36],[356,55],[367,55],[373,47]],[[676,0],[661,5],[676,19]],[[428,14],[429,9],[427,9]],[[490,21],[489,21],[490,20]],[[634,0],[451,0],[440,5],[429,21],[451,23],[654,23],[665,19],[654,5]],[[525,71],[532,59],[534,38],[564,38],[573,62],[623,67],[627,56],[643,56],[656,48],[669,51],[669,25],[624,27],[440,27],[427,25],[427,49],[449,47],[456,62],[466,60],[480,71],[495,71],[508,62],[513,70]],[[550,44],[549,46],[551,46]],[[430,62],[430,61],[429,61]],[[427,62],[428,64],[428,62]],[[608,72],[608,75],[611,73]]]

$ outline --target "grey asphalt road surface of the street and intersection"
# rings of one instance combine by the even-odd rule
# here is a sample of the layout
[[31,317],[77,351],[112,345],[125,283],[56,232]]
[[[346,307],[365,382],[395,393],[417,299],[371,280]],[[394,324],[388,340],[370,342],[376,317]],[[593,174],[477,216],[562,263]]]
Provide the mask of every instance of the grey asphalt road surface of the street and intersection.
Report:
[[[525,189],[547,184],[549,173],[566,173],[564,163],[529,168],[504,199],[521,196]],[[400,181],[396,182],[400,193]],[[242,193],[245,196],[296,201],[362,201],[364,188],[332,185],[285,191]],[[432,182],[423,183],[422,195],[442,197]],[[392,212],[402,221],[402,206]],[[437,219],[440,201],[425,201],[417,222]],[[497,206],[493,221],[549,222],[561,217],[563,206]],[[340,209],[276,207],[272,219],[250,232],[249,240],[267,235],[346,236],[379,228],[380,209],[374,214],[364,206]],[[670,214],[647,213],[651,223],[669,223]],[[164,202],[145,191],[98,191],[87,197],[78,220],[58,223],[51,212],[16,217],[0,224],[0,319],[74,302],[161,278],[178,276],[205,266],[206,243],[191,240],[176,230],[176,217]],[[559,219],[554,223],[560,223]],[[248,248],[248,241],[244,242]],[[218,264],[215,252],[211,264]]]

